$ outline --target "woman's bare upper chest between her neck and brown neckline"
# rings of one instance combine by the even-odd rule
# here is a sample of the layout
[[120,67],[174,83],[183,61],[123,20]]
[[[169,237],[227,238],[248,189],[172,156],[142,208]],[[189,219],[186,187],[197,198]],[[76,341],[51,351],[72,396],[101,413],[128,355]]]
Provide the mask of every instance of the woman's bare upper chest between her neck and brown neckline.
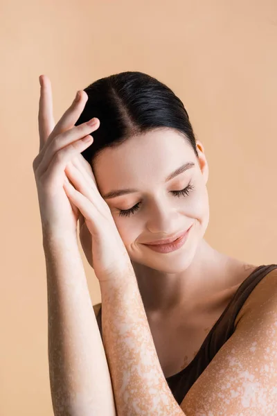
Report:
[[255,268],[250,265],[245,266],[240,280],[238,281],[237,277],[234,279],[238,284],[220,293],[215,291],[212,297],[205,300],[199,299],[199,306],[196,309],[190,311],[177,309],[159,320],[151,320],[148,316],[159,361],[166,377],[177,374],[193,361],[208,332],[224,313],[242,281]]

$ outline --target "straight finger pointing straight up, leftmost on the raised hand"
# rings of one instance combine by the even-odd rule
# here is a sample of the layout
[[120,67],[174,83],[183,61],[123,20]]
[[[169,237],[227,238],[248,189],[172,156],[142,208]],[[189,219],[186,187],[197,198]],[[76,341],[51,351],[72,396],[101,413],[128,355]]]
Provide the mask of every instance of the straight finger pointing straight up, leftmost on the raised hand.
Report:
[[50,79],[46,75],[39,76],[40,96],[39,96],[39,152],[46,144],[54,126],[53,99]]

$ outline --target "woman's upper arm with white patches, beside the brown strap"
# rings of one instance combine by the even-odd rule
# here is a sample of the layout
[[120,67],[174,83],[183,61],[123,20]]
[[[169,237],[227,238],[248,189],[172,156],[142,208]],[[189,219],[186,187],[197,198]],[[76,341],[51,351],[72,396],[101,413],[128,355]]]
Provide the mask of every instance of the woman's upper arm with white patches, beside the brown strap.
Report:
[[276,399],[277,269],[274,269],[247,297],[232,336],[180,406],[186,416],[276,415]]

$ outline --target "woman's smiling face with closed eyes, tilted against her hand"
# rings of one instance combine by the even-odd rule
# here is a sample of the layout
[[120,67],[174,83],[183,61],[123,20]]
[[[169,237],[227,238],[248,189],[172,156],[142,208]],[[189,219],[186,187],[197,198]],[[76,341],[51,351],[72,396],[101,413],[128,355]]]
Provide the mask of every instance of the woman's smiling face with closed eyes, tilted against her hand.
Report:
[[[98,189],[132,261],[169,273],[188,266],[209,220],[208,164],[199,141],[197,151],[199,161],[184,137],[175,130],[159,129],[103,150],[93,163]],[[186,171],[166,182],[188,162]],[[133,191],[107,197],[107,193],[123,189]],[[186,243],[175,252],[162,254],[144,245],[186,231],[191,225]]]

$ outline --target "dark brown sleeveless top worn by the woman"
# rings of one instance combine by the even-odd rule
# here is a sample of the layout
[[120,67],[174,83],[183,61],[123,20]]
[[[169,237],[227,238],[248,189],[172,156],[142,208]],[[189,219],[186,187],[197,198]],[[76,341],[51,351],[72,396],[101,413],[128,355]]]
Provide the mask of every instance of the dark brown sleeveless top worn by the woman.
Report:
[[[178,404],[181,404],[181,401],[184,400],[188,390],[190,390],[198,377],[204,372],[206,367],[208,367],[208,364],[211,363],[220,348],[227,340],[229,340],[235,331],[235,318],[244,302],[247,300],[247,297],[253,291],[253,288],[255,288],[263,277],[275,268],[277,268],[277,264],[258,266],[258,268],[251,272],[247,279],[242,281],[242,284],[234,293],[231,301],[220,315],[220,318],[218,318],[213,325],[213,328],[206,336],[197,355],[193,358],[193,361],[177,374],[173,374],[166,378],[172,395],[175,397]],[[93,306],[102,337],[101,307],[102,304]]]

